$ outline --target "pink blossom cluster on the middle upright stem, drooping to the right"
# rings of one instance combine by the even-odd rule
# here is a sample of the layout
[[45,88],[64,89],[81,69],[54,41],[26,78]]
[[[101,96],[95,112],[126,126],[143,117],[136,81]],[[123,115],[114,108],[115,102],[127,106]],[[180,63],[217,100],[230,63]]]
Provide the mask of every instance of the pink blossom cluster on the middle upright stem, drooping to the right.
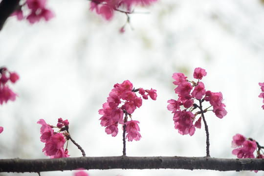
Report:
[[[101,126],[106,127],[105,132],[116,136],[118,133],[118,124],[126,125],[126,132],[128,133],[126,138],[129,141],[139,140],[141,135],[139,133],[138,121],[127,121],[127,116],[131,117],[131,114],[136,108],[141,107],[142,99],[136,95],[136,92],[142,96],[143,99],[150,97],[156,100],[157,94],[154,89],[134,89],[132,83],[129,80],[124,81],[122,84],[115,84],[114,88],[109,93],[107,102],[103,104],[103,109],[99,110],[99,114],[102,117]],[[121,104],[123,103],[123,104]],[[124,118],[125,114],[125,118]]]

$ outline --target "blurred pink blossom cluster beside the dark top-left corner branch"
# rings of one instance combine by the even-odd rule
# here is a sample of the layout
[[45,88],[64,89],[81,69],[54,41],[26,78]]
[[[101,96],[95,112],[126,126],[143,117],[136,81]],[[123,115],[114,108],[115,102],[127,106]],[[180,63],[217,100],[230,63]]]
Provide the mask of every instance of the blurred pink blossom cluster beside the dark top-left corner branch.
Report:
[[24,19],[22,8],[27,7],[30,13],[27,15],[26,19],[31,24],[39,22],[41,19],[48,21],[54,17],[54,14],[46,8],[46,2],[47,0],[26,0],[25,3],[12,14],[12,16],[17,16],[18,20]]

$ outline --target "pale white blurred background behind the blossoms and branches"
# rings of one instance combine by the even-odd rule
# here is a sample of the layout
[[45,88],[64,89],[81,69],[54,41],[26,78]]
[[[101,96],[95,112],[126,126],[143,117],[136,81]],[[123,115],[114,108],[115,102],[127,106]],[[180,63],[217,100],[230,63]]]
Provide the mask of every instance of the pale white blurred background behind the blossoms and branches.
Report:
[[[124,34],[126,16],[112,21],[89,11],[88,0],[49,0],[56,17],[34,25],[11,17],[0,31],[0,66],[16,71],[15,102],[0,106],[0,158],[48,158],[42,153],[39,119],[56,125],[68,119],[71,136],[87,156],[122,155],[122,132],[106,134],[98,110],[116,83],[130,80],[135,88],[154,88],[157,100],[143,100],[132,114],[140,122],[140,141],[127,142],[128,156],[205,156],[205,131],[193,136],[174,129],[167,100],[176,99],[172,74],[193,79],[196,67],[207,71],[206,90],[221,91],[227,115],[205,118],[212,157],[236,158],[231,141],[236,133],[264,145],[263,0],[159,0],[135,9]],[[143,13],[142,13],[143,12]],[[149,13],[145,13],[149,12]],[[209,104],[207,104],[209,106]],[[204,106],[207,106],[204,105]],[[82,156],[72,143],[71,157]],[[263,176],[262,171],[90,170],[90,176]],[[38,176],[1,173],[0,176]],[[41,176],[73,176],[45,172]]]

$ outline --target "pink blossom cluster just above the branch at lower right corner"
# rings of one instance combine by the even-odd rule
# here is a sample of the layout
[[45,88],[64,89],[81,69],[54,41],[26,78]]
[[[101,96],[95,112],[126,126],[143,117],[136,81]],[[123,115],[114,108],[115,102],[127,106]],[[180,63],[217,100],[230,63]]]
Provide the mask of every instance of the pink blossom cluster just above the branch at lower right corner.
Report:
[[257,158],[264,158],[264,154],[261,154],[261,149],[264,147],[252,138],[247,139],[242,134],[233,136],[232,148],[237,148],[232,151],[232,154],[237,155],[238,158],[255,158],[255,150],[257,150]]

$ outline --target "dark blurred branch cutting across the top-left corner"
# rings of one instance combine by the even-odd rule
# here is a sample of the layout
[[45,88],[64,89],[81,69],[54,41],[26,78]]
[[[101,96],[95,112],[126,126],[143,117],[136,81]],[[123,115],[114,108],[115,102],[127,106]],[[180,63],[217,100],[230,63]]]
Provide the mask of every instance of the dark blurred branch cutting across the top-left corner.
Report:
[[18,8],[20,0],[2,0],[0,2],[0,30],[6,19]]

